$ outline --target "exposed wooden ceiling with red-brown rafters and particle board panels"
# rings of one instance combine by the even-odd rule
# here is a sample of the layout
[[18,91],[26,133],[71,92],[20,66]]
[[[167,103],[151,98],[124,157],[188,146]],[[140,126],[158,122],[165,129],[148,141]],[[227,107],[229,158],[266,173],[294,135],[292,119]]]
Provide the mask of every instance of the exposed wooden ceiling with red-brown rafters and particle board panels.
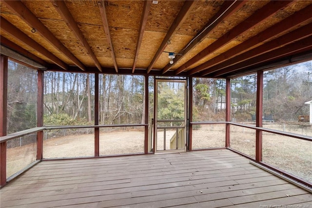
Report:
[[[233,77],[312,60],[311,0],[1,0],[0,6],[1,45],[48,70]],[[176,53],[173,64],[168,52]]]

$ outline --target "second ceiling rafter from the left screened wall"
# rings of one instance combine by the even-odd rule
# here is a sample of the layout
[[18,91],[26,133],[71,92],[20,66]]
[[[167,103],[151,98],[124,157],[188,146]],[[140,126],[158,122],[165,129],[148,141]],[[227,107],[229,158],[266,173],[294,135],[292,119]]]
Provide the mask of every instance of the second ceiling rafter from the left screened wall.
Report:
[[33,39],[29,38],[25,33],[20,31],[17,27],[15,27],[13,24],[5,20],[4,18],[0,17],[0,21],[1,21],[0,24],[1,30],[9,33],[12,37],[18,39],[19,41],[38,51],[43,56],[47,57],[52,62],[57,64],[59,67],[67,70],[68,65],[66,63],[62,62],[58,57],[56,57],[50,51],[42,47],[38,42],[35,42]]

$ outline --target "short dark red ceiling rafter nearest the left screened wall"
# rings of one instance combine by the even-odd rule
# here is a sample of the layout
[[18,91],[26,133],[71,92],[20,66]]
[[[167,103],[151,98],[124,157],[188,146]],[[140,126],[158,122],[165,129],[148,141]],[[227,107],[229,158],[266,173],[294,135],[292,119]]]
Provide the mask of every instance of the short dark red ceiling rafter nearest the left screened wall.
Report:
[[38,62],[44,66],[47,66],[48,63],[43,61],[42,59],[40,59],[38,56],[30,53],[29,51],[25,50],[24,48],[20,47],[20,45],[15,44],[14,42],[11,42],[10,40],[6,39],[3,36],[0,36],[0,41],[1,41],[1,45],[7,46],[9,48],[11,48],[12,50],[18,52],[19,54],[35,61]]

